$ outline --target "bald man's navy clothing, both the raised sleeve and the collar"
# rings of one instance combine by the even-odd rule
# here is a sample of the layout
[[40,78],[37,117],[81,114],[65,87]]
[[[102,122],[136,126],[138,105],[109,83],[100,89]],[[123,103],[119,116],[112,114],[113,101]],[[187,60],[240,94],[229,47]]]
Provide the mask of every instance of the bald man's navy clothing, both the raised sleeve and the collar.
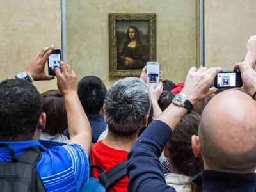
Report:
[[[164,173],[158,160],[164,145],[168,142],[172,130],[159,120],[153,121],[141,134],[128,154],[128,191],[174,192],[166,185]],[[202,191],[204,192],[247,192],[256,191],[255,174],[230,174],[214,171],[202,173]]]

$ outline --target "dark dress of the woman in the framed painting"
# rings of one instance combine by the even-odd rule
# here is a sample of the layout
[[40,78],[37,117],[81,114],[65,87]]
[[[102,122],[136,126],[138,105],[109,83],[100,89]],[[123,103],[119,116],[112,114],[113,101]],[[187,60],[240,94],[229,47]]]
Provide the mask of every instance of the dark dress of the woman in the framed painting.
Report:
[[[142,69],[149,60],[148,46],[140,43],[136,47],[128,47],[126,43],[122,52],[118,54],[118,70]],[[125,57],[132,58],[134,63],[132,65],[125,65]]]

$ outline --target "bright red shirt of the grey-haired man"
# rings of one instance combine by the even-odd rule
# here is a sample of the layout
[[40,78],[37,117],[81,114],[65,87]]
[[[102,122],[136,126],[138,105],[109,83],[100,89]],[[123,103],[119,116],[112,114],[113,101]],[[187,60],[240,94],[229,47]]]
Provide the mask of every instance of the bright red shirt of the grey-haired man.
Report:
[[[92,164],[98,164],[102,166],[105,171],[108,171],[116,164],[121,163],[127,159],[127,151],[116,150],[114,148],[108,147],[102,141],[95,143],[92,146]],[[93,170],[93,176],[98,178],[99,171]],[[127,192],[128,176],[125,176],[118,180],[113,187],[109,188],[109,192]]]

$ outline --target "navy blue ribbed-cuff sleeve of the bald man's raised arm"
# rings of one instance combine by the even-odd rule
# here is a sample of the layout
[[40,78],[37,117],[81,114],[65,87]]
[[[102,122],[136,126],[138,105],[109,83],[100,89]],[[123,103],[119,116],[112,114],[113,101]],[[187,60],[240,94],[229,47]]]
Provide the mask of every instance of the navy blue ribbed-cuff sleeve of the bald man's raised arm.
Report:
[[175,191],[166,185],[159,156],[168,142],[172,130],[159,120],[154,120],[134,143],[128,154],[129,192]]

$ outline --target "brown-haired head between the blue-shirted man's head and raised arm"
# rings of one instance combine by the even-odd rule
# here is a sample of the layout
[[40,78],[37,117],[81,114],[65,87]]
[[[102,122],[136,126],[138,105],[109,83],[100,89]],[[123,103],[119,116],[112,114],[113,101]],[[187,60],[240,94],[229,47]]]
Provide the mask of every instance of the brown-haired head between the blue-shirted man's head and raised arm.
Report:
[[67,129],[67,112],[64,99],[58,90],[49,90],[41,94],[42,108],[46,113],[46,126],[43,132],[54,136]]

